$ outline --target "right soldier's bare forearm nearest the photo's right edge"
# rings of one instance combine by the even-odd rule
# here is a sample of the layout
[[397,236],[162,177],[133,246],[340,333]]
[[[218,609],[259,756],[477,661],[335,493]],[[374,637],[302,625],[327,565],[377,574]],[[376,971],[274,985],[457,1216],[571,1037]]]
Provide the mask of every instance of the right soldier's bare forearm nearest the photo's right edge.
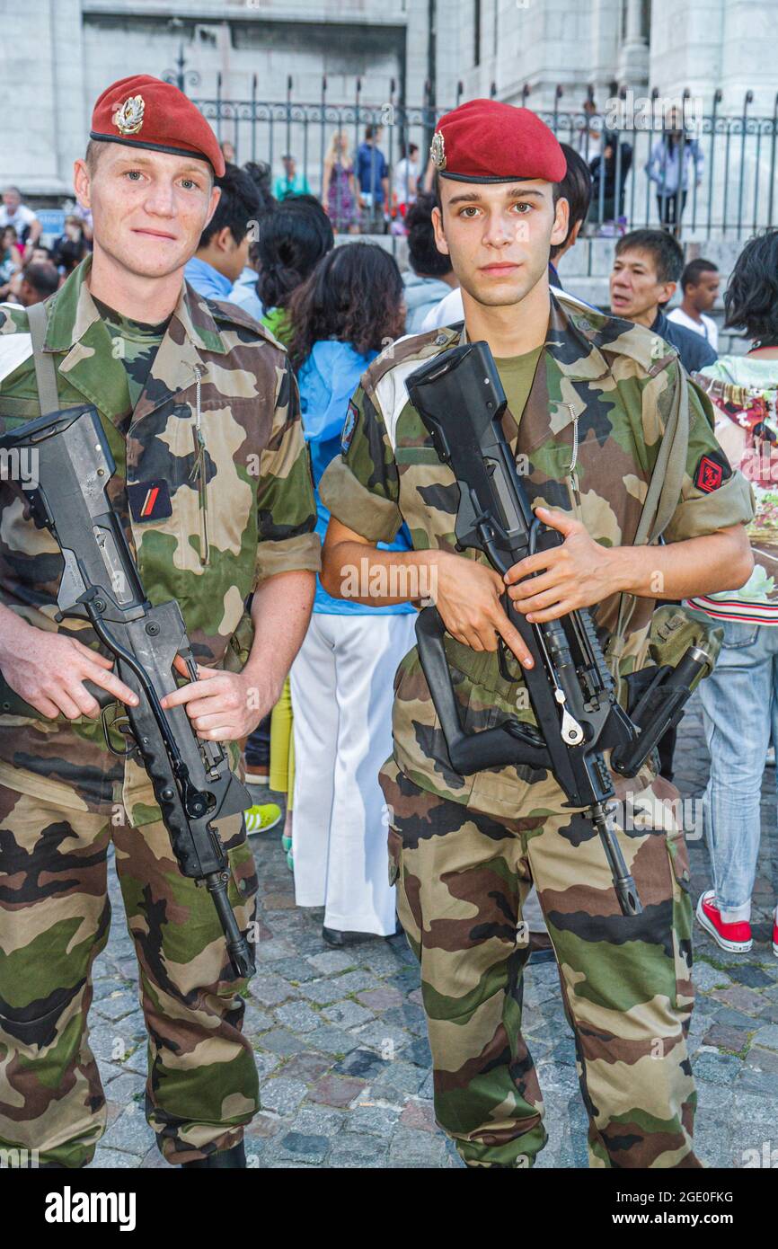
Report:
[[753,570],[742,525],[667,546],[614,547],[611,557],[616,588],[641,598],[688,598],[738,590]]

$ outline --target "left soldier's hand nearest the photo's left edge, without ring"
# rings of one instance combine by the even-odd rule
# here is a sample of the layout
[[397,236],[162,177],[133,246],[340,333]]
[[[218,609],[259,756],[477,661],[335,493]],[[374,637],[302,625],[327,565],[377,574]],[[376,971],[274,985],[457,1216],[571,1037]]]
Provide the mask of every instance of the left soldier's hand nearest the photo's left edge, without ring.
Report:
[[120,702],[137,704],[130,687],[111,672],[112,659],[75,637],[45,633],[26,622],[20,629],[2,631],[0,664],[11,689],[50,719],[95,718],[100,713],[97,701],[84,687],[85,681],[107,689]]

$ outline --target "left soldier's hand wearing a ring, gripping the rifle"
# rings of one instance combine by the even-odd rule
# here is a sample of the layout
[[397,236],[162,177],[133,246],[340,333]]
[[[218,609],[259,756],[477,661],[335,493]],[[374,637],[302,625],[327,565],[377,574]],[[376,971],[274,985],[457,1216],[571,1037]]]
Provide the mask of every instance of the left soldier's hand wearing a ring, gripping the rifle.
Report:
[[[175,667],[182,677],[189,676],[184,659],[176,656]],[[255,683],[244,672],[225,672],[221,668],[197,666],[197,679],[181,686],[162,698],[162,707],[186,707],[197,737],[211,742],[234,742],[260,723],[276,702],[262,697]],[[266,706],[267,703],[267,706]]]

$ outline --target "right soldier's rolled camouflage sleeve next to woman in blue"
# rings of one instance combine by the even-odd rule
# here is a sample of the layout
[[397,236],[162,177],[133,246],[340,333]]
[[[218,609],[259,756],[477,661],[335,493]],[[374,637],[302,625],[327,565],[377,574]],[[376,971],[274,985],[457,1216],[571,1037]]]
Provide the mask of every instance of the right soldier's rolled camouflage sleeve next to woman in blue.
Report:
[[348,403],[341,455],[327,466],[318,493],[336,520],[371,542],[391,542],[402,525],[392,446],[362,386]]

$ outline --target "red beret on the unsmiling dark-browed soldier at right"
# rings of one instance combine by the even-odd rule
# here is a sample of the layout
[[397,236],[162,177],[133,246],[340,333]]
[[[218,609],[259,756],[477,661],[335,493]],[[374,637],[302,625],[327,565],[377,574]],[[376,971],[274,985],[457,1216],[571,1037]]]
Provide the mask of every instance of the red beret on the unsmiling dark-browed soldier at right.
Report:
[[458,182],[561,182],[567,160],[553,132],[529,109],[468,100],[437,124],[430,147],[441,177]]

